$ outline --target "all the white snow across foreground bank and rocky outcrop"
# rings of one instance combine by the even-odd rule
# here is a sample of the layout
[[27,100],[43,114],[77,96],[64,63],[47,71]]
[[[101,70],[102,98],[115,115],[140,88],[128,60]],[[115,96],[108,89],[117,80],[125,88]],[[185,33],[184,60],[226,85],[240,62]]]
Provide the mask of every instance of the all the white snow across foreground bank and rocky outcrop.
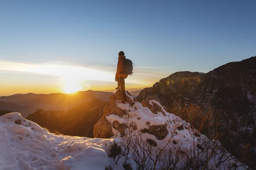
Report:
[[[132,96],[128,94],[127,96],[134,102]],[[207,143],[216,142],[220,145],[218,141],[208,139],[192,129],[191,125],[182,118],[166,112],[164,107],[156,100],[150,100],[149,104],[153,106],[157,104],[161,111],[154,114],[139,102],[134,102],[132,106],[129,103],[117,103],[118,107],[127,110],[128,114],[123,117],[112,114],[106,118],[111,123],[118,121],[120,124],[136,125],[136,130],[132,131],[131,134],[133,136],[152,125],[165,125],[168,134],[164,139],[157,139],[153,134],[140,134],[144,140],[153,139],[156,141],[157,146],[152,148],[152,153],[160,150],[169,142],[168,145],[175,150],[177,145],[173,145],[173,141],[182,150],[190,150],[191,146],[197,144],[207,145]],[[182,126],[182,128],[177,129],[179,126]],[[0,117],[0,169],[105,169],[109,166],[113,169],[124,169],[122,167],[124,157],[120,159],[118,164],[115,164],[113,158],[108,157],[114,142],[119,145],[124,142],[119,131],[114,128],[112,128],[112,131],[115,138],[110,139],[56,135],[35,122],[26,120],[20,113],[8,113]],[[199,135],[195,136],[195,134]],[[202,144],[200,143],[202,139],[207,139],[208,142]],[[197,154],[196,152],[194,154]],[[216,152],[219,151],[216,150]],[[227,153],[227,157],[228,154],[230,153]],[[216,159],[218,157],[209,160],[208,168],[216,169]],[[227,169],[228,164],[233,163],[240,164],[234,161],[225,162],[220,168]],[[132,169],[136,169],[134,161],[129,160],[129,164]],[[180,164],[182,164],[182,161],[180,161]]]

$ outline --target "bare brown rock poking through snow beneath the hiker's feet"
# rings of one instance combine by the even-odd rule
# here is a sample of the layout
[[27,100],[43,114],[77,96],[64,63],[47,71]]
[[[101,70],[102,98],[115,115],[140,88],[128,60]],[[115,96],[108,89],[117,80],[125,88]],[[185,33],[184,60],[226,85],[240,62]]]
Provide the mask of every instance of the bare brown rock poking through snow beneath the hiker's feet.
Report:
[[[112,127],[116,129],[116,131],[120,132],[120,136],[125,136],[125,129],[127,129],[127,125],[124,123],[120,123],[117,120],[113,121],[112,124],[108,121],[106,117],[109,115],[116,115],[120,118],[128,116],[129,111],[131,110],[125,110],[118,107],[118,103],[121,103],[122,97],[120,97],[122,94],[120,93],[120,90],[118,90],[115,94],[115,96],[111,96],[111,101],[109,101],[103,111],[103,116],[100,118],[99,122],[95,124],[93,129],[93,137],[94,138],[110,138],[113,136]],[[156,98],[157,99],[157,98]],[[154,97],[148,97],[143,101],[142,104],[144,104],[144,107],[148,107],[150,111],[154,114],[163,114],[165,115],[165,111],[163,107],[156,104],[156,99]],[[154,100],[154,102],[153,102]],[[136,107],[134,107],[134,101],[131,94],[127,92],[127,104],[130,108],[136,110]],[[157,113],[158,111],[158,113]],[[151,114],[152,114],[151,113]],[[138,118],[137,120],[140,120]],[[143,121],[143,120],[141,120]],[[126,123],[126,122],[125,122]],[[148,129],[140,129],[140,132],[142,133],[148,133],[156,136],[157,139],[161,140],[164,139],[164,137],[168,134],[168,130],[166,128],[166,125],[160,124],[160,125],[150,125],[150,122],[145,123],[148,126]],[[131,124],[130,125],[134,131],[138,129],[137,125]],[[154,142],[150,141],[150,145],[154,146]]]

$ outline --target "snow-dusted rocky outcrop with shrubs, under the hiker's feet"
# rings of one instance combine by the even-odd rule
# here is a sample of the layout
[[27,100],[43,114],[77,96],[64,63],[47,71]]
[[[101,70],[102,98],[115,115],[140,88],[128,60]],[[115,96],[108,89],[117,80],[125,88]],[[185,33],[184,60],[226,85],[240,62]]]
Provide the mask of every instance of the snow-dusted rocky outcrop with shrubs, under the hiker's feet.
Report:
[[116,163],[129,164],[132,169],[244,169],[220,141],[207,138],[168,113],[154,97],[139,103],[127,92],[127,99],[121,103],[116,92],[99,121],[102,132],[111,131],[108,134],[116,139],[113,146],[122,148],[120,155],[113,157]]

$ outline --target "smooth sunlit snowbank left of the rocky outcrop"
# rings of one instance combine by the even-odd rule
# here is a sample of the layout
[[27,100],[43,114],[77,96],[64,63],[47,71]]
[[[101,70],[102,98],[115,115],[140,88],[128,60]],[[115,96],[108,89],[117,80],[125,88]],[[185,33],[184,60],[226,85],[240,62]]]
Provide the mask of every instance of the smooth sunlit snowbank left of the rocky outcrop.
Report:
[[113,139],[52,134],[26,120],[20,113],[8,113],[0,117],[0,134],[0,169],[115,167],[107,154],[109,141]]

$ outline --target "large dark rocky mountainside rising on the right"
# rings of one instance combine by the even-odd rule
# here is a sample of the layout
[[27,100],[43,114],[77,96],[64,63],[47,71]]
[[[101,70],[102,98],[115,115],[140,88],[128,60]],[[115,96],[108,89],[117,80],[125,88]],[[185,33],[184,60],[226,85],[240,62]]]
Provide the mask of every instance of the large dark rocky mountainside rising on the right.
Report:
[[216,131],[223,136],[221,143],[237,157],[244,146],[249,146],[252,160],[256,159],[256,56],[230,62],[207,74],[173,73],[153,87],[141,90],[136,100],[143,103],[148,96],[157,96],[169,112],[178,101],[220,112],[220,118],[213,117],[213,120],[221,122]]

